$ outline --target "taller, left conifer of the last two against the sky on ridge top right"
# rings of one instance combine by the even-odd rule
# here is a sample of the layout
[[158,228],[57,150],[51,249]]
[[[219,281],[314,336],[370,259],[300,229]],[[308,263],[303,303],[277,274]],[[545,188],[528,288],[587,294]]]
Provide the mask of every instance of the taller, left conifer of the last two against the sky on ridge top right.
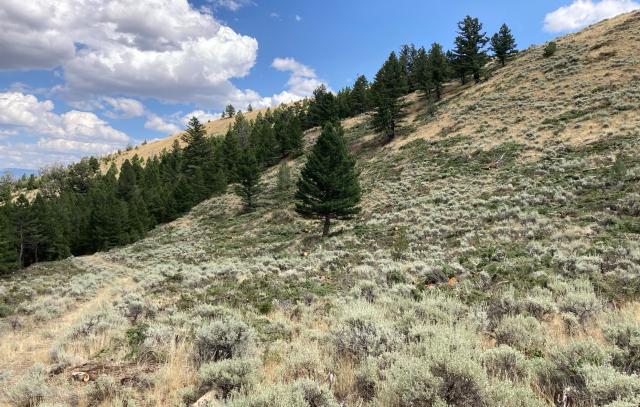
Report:
[[480,82],[480,74],[487,61],[484,47],[489,39],[482,31],[482,23],[477,18],[466,16],[458,23],[458,36],[453,51],[464,70],[463,75],[471,73],[476,83]]

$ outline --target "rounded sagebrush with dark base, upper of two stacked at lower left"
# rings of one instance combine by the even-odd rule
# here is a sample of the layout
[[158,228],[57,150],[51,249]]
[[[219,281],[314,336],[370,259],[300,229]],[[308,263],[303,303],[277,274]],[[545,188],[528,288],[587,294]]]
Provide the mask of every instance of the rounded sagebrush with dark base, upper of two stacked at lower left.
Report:
[[198,363],[216,362],[246,356],[253,348],[255,333],[236,319],[213,321],[196,332],[195,349]]

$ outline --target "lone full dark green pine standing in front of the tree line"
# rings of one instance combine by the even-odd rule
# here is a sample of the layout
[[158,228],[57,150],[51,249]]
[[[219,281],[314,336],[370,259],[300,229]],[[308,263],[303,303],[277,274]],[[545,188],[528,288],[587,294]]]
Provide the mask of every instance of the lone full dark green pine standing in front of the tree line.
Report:
[[355,160],[349,155],[344,130],[325,125],[302,169],[296,192],[296,211],[323,220],[322,235],[329,235],[331,219],[349,219],[360,211],[360,184]]

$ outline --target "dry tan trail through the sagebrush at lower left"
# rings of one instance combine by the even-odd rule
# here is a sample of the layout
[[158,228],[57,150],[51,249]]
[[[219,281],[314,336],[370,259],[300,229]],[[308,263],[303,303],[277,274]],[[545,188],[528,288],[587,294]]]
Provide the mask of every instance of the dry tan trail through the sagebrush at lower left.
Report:
[[[24,327],[1,337],[0,372],[9,372],[10,381],[22,376],[34,363],[49,364],[49,350],[55,343],[64,342],[70,327],[84,315],[97,311],[102,304],[118,299],[123,288],[126,289],[135,284],[131,276],[132,269],[115,264],[101,254],[84,257],[81,263],[120,270],[114,273],[114,278],[106,280],[95,293],[76,301],[73,308],[60,317],[44,323],[28,320]],[[90,270],[87,269],[87,272]],[[0,405],[2,405],[1,398]]]

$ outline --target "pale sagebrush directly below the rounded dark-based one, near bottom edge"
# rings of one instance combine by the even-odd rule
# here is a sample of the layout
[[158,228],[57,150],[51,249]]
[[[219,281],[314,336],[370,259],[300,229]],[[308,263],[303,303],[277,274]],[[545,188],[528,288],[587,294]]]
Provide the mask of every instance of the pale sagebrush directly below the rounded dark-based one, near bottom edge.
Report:
[[200,388],[216,389],[223,399],[231,392],[251,386],[257,381],[257,362],[250,359],[225,359],[206,363],[198,370]]

